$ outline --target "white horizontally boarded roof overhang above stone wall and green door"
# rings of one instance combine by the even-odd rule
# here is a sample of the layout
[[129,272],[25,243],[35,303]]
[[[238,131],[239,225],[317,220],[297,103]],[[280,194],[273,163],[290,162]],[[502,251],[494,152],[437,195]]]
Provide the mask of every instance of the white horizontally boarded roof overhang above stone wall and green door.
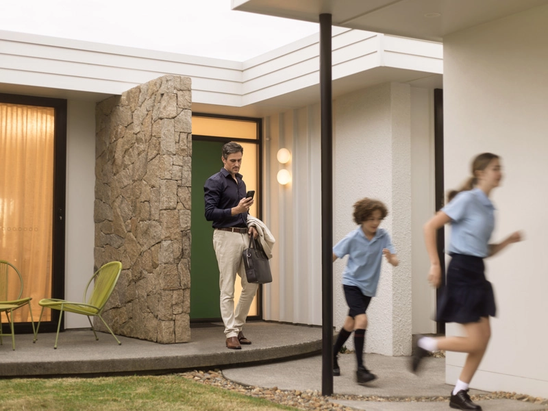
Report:
[[[0,92],[101,101],[164,74],[192,79],[192,110],[266,116],[319,101],[319,35],[245,62],[0,30]],[[385,82],[441,87],[440,43],[335,27],[333,96]]]

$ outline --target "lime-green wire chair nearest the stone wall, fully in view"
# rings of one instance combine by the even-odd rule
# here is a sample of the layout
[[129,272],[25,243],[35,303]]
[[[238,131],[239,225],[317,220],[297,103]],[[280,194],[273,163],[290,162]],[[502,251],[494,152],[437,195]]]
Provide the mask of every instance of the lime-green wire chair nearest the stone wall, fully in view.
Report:
[[64,311],[88,316],[88,321],[90,322],[91,329],[93,331],[93,334],[95,334],[95,340],[99,340],[99,337],[97,337],[97,333],[95,332],[95,328],[93,327],[93,323],[91,322],[90,317],[98,316],[99,319],[103,321],[103,324],[105,325],[105,327],[107,327],[108,331],[110,331],[110,334],[112,334],[118,345],[121,345],[122,343],[120,342],[120,340],[116,338],[116,336],[112,332],[112,329],[110,329],[108,324],[105,323],[105,320],[103,320],[103,317],[101,316],[101,313],[105,308],[105,304],[110,298],[112,291],[114,291],[114,287],[116,286],[116,282],[118,282],[121,271],[122,263],[119,261],[109,262],[103,265],[99,270],[97,270],[93,277],[91,277],[88,285],[86,286],[86,290],[84,291],[84,301],[86,301],[88,289],[93,283],[90,297],[85,303],[75,303],[62,299],[40,300],[38,304],[42,306],[42,312],[40,312],[40,320],[38,320],[38,327],[36,327],[36,337],[38,337],[38,328],[40,328],[40,322],[42,321],[42,314],[44,314],[44,309],[51,308],[51,310],[60,311],[59,323],[57,325],[57,335],[55,336],[55,345],[53,346],[54,349],[57,349],[59,329],[61,327],[61,319]]

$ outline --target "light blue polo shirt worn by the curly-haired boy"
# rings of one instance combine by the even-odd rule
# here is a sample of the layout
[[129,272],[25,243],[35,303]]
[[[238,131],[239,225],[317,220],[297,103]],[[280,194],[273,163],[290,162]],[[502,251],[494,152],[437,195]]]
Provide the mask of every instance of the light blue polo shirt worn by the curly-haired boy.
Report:
[[382,249],[385,248],[390,253],[396,253],[390,235],[382,228],[377,229],[371,241],[367,239],[361,226],[340,240],[333,247],[333,253],[338,258],[348,254],[343,285],[359,287],[363,295],[375,297],[381,273]]

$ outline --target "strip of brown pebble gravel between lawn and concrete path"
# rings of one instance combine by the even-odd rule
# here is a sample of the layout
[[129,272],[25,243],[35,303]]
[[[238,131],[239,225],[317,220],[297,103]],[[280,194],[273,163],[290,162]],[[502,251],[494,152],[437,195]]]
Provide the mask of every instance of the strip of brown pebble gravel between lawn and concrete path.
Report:
[[[216,369],[215,371],[190,371],[187,373],[180,373],[184,378],[192,379],[193,381],[200,382],[201,384],[208,384],[210,386],[216,386],[224,388],[225,390],[231,390],[236,393],[249,395],[251,397],[258,397],[273,401],[275,403],[282,404],[284,406],[290,406],[298,408],[299,410],[334,410],[334,411],[354,411],[353,408],[347,406],[341,406],[332,403],[331,400],[352,400],[352,401],[397,401],[397,402],[434,402],[434,401],[449,401],[449,397],[376,397],[376,396],[363,396],[363,395],[338,395],[334,394],[332,397],[323,397],[317,390],[279,390],[277,387],[273,388],[261,388],[257,386],[242,386],[236,384],[223,377],[223,373]],[[471,398],[475,401],[482,399],[516,399],[518,401],[527,401],[530,403],[542,404],[546,406],[548,410],[548,399],[540,397],[532,397],[525,394],[517,393],[504,393],[497,391],[486,395],[471,395]]]

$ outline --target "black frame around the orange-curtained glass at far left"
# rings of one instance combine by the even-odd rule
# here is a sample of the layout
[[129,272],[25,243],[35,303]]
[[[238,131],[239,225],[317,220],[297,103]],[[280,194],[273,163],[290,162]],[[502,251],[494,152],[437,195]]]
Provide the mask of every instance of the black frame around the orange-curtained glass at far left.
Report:
[[[0,103],[36,105],[53,108],[55,112],[53,138],[53,225],[51,234],[51,297],[64,299],[65,286],[65,204],[66,204],[66,99],[51,97],[34,97],[0,93]],[[38,313],[36,313],[38,314]],[[59,312],[51,310],[51,321],[40,325],[42,332],[55,332],[59,320]],[[35,322],[38,315],[34,315]],[[20,334],[32,333],[31,323],[14,324],[15,331]],[[64,325],[62,325],[64,330]]]

